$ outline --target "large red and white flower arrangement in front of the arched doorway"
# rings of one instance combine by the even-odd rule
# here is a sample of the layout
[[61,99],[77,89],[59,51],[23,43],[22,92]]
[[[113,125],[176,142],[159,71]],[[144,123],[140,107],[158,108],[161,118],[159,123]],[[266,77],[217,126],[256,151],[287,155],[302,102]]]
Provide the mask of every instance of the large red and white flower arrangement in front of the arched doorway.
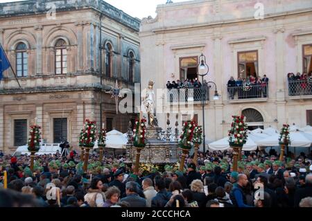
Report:
[[248,127],[245,124],[245,116],[232,116],[233,122],[229,130],[229,145],[242,147],[247,141]]

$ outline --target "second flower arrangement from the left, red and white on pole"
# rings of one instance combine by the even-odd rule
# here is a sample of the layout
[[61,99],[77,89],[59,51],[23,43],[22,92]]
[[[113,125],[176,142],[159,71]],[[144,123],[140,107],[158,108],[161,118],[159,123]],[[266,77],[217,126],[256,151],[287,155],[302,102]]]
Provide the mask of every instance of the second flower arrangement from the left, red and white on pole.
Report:
[[80,132],[79,145],[80,147],[93,148],[96,139],[96,121],[85,120],[83,130]]

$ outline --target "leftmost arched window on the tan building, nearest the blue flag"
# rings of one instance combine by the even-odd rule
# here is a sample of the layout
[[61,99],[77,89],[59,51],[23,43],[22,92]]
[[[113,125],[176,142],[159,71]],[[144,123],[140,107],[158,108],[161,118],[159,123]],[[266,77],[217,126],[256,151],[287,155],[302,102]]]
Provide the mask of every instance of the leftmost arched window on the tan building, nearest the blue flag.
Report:
[[24,43],[19,43],[16,46],[16,71],[17,77],[28,76],[28,55],[27,46]]

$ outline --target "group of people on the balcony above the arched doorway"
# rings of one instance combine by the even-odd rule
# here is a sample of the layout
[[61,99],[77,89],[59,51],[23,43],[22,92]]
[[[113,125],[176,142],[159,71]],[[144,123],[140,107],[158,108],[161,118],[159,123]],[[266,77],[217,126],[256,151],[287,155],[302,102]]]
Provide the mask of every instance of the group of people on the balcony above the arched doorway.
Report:
[[263,75],[263,78],[260,76],[239,77],[237,80],[231,77],[227,82],[229,99],[233,100],[236,93],[239,99],[266,98],[268,96],[268,81],[266,75]]

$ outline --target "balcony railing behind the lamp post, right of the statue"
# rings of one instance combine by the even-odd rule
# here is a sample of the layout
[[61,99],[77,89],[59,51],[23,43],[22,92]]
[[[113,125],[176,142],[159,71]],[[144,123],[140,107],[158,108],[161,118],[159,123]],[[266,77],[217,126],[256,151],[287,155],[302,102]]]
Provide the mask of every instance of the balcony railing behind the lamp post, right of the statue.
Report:
[[201,103],[202,100],[209,100],[209,87],[167,89],[166,100],[168,103]]

